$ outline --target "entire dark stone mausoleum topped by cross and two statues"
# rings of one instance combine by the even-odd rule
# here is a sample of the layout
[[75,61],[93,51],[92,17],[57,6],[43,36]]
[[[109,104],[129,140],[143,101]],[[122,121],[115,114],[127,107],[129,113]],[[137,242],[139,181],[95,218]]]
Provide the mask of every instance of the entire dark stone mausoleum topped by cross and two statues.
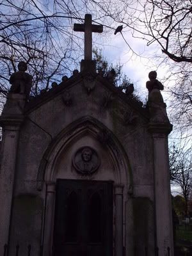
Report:
[[113,72],[96,72],[92,32],[102,26],[86,15],[74,30],[85,33],[80,72],[37,97],[29,97],[26,63],[10,77],[0,120],[0,254],[173,256],[163,85],[150,72],[142,106],[132,88],[114,86]]

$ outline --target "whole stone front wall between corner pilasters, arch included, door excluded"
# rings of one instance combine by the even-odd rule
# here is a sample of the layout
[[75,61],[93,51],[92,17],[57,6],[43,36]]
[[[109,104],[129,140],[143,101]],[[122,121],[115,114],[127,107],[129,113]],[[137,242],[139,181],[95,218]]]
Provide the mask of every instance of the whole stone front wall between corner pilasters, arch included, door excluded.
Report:
[[[33,253],[38,254],[44,243],[44,253],[49,256],[46,253],[51,253],[56,179],[90,179],[114,182],[113,236],[114,243],[118,243],[114,244],[117,255],[122,246],[131,255],[137,239],[141,246],[149,246],[152,254],[154,156],[147,111],[102,79],[97,79],[92,90],[84,86],[81,77],[60,86],[62,90],[53,88],[31,100],[20,125],[10,252],[17,243],[22,248],[31,243]],[[93,148],[100,158],[100,166],[92,175],[81,175],[72,165],[81,147]]]

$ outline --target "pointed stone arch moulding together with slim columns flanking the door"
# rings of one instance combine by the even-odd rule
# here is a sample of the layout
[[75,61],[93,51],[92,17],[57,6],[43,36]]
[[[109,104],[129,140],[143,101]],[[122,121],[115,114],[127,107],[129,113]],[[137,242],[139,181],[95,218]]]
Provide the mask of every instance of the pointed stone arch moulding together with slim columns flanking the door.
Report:
[[[65,156],[65,159],[68,159],[66,157],[67,155],[65,155],[67,154],[67,149],[77,145],[76,141],[80,141],[81,143],[82,138],[89,137],[92,138],[91,140],[97,141],[100,148],[104,147],[102,152],[105,152],[111,163],[113,163],[113,179],[108,179],[111,181],[113,180],[113,196],[115,198],[113,211],[115,212],[114,216],[118,216],[113,222],[113,237],[116,237],[115,255],[122,255],[124,241],[123,234],[125,234],[124,228],[126,225],[126,217],[122,209],[124,208],[123,205],[125,205],[129,199],[128,193],[131,192],[129,191],[129,188],[132,188],[131,166],[127,154],[115,134],[113,134],[113,132],[111,132],[104,124],[95,120],[95,118],[87,116],[72,122],[72,124],[63,129],[60,134],[51,141],[40,163],[37,180],[40,184],[42,184],[43,181],[47,184],[45,193],[46,206],[44,232],[42,236],[44,237],[45,256],[50,255],[51,244],[53,243],[55,184],[56,179],[58,179],[57,172],[58,169],[60,169],[58,168],[60,161],[63,159],[63,156]],[[98,141],[100,141],[100,143],[98,143]],[[93,178],[93,180],[97,180],[97,178],[106,181],[105,177],[102,176],[102,173]],[[67,177],[67,179],[71,178]],[[77,179],[82,179],[82,177],[78,177]]]

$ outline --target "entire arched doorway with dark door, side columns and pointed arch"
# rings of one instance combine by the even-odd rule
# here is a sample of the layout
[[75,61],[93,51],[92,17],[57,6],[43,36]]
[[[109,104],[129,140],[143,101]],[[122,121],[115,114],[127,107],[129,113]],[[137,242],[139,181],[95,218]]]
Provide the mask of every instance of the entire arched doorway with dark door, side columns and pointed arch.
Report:
[[[106,132],[108,133],[106,136],[108,140],[105,140],[103,137],[105,141],[100,141],[100,136]],[[82,147],[93,148],[98,153],[100,165],[93,173],[79,173],[72,164],[76,152]],[[44,255],[52,256],[54,255],[53,253],[58,253],[56,256],[64,255],[63,250],[68,250],[66,251],[67,255],[70,255],[68,252],[76,255],[76,253],[70,251],[72,246],[70,248],[67,243],[77,243],[78,237],[83,236],[84,238],[79,239],[79,244],[77,244],[77,248],[80,249],[76,249],[78,252],[80,250],[82,255],[102,255],[103,248],[106,248],[108,253],[104,251],[104,255],[122,256],[126,225],[124,207],[125,202],[127,202],[128,190],[132,187],[131,168],[124,148],[122,148],[115,136],[104,125],[93,120],[93,118],[82,118],[61,132],[58,138],[47,148],[47,152],[45,152],[44,159],[40,165],[38,180],[45,180],[46,182],[43,234]],[[58,185],[60,182],[65,183],[63,185],[65,192],[63,193],[60,185]],[[66,184],[71,184],[72,186],[68,188],[69,191],[73,190],[72,188],[76,186],[70,195],[68,195],[69,197],[67,196],[67,188],[65,188]],[[106,196],[102,196],[100,190],[104,190],[107,187]],[[82,196],[92,195],[93,197],[87,197],[86,200],[83,200],[81,192],[78,192],[77,188],[80,190],[81,188],[85,189]],[[92,190],[92,193],[90,193],[90,190]],[[61,195],[61,200],[59,201],[57,198],[58,195]],[[62,204],[64,208],[68,207],[68,212],[66,209],[65,212],[62,212],[64,210],[60,210],[60,205]],[[79,209],[79,214],[75,214],[79,205],[83,204],[83,209]],[[96,207],[94,205],[97,205],[98,208],[100,207],[100,211],[95,212],[95,215],[91,211],[91,209]],[[106,205],[108,205],[108,211],[104,214],[103,207]],[[85,216],[87,215],[88,218],[84,218],[83,211],[86,212]],[[61,212],[61,216],[60,214],[57,215],[57,212]],[[99,221],[99,214],[102,214],[102,218],[104,218],[100,219],[100,221],[106,221],[108,223],[107,228],[102,225],[100,231],[98,229],[94,233],[90,233],[90,228],[92,230],[99,228],[99,225],[95,225]],[[109,218],[109,216],[111,217]],[[68,218],[71,219],[68,220]],[[80,218],[79,222],[77,221],[78,218]],[[96,222],[93,221],[95,218],[97,219]],[[65,225],[63,224],[63,228],[60,225],[61,220],[65,223]],[[67,223],[71,224],[69,225]],[[77,231],[73,233],[72,230],[76,229],[73,227],[75,223]],[[82,228],[79,231],[79,227],[86,228]],[[106,241],[100,245],[98,241],[94,241],[99,239],[99,232],[101,234],[102,232],[106,232],[105,236],[101,236]],[[95,237],[93,234],[95,234]],[[58,236],[61,236],[63,239],[61,239],[62,243],[60,244],[56,244]],[[71,241],[67,241],[66,236],[70,237]],[[89,239],[93,241],[88,241]],[[72,240],[76,240],[76,242]],[[65,244],[65,249],[62,249],[63,244]],[[93,246],[94,244],[95,247]],[[84,253],[85,251],[86,253]]]

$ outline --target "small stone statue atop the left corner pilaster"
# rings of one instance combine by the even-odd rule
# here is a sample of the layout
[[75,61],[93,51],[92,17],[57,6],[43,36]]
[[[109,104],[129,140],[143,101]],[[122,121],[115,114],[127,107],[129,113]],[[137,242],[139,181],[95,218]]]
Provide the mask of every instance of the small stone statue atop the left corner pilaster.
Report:
[[24,61],[19,62],[18,69],[19,71],[10,77],[10,84],[12,84],[10,92],[26,94],[28,97],[32,86],[32,76],[25,72],[28,66]]

